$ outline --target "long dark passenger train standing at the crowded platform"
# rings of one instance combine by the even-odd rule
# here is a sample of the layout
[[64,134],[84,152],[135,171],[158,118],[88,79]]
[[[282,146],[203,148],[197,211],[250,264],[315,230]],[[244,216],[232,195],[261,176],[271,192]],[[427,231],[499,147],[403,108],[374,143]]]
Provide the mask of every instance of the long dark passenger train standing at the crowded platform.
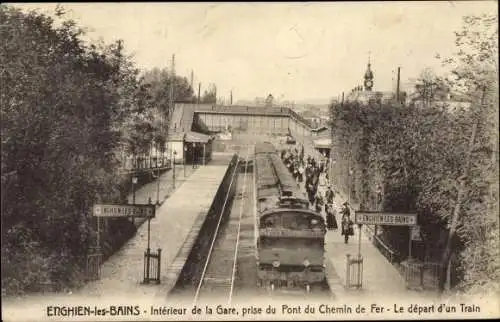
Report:
[[271,291],[324,290],[323,217],[309,202],[270,142],[255,145],[258,286]]

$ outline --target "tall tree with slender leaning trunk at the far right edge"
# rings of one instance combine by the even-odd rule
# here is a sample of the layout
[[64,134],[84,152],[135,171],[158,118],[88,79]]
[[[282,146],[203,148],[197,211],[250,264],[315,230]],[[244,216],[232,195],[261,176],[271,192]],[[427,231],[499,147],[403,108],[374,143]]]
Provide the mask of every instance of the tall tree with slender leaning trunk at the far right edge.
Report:
[[[487,285],[498,294],[498,16],[465,16],[463,20],[462,30],[456,32],[459,51],[444,61],[455,66],[449,82],[473,103],[467,111],[469,151],[458,180],[450,236],[456,233],[465,245],[460,254],[462,287],[477,292]],[[451,256],[451,237],[442,259],[444,267]],[[443,270],[441,290],[444,276]]]

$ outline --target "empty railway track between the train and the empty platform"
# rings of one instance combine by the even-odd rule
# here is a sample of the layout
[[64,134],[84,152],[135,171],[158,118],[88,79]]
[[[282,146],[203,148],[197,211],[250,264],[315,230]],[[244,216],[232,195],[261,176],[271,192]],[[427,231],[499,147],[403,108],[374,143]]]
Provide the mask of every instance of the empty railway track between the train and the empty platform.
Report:
[[[238,248],[241,232],[241,218],[243,213],[243,204],[245,203],[245,187],[247,184],[247,163],[249,159],[250,148],[247,149],[245,160],[245,173],[243,179],[243,192],[235,198],[241,198],[240,209],[237,216],[229,215],[227,225],[222,224],[222,217],[219,217],[217,223],[215,238],[212,240],[209,254],[200,278],[200,283],[196,288],[194,303],[207,302],[210,300],[227,299],[228,303],[232,301],[234,291],[234,281],[236,274]],[[238,176],[239,162],[232,174],[230,188]],[[228,197],[224,201],[222,212],[228,206]]]

